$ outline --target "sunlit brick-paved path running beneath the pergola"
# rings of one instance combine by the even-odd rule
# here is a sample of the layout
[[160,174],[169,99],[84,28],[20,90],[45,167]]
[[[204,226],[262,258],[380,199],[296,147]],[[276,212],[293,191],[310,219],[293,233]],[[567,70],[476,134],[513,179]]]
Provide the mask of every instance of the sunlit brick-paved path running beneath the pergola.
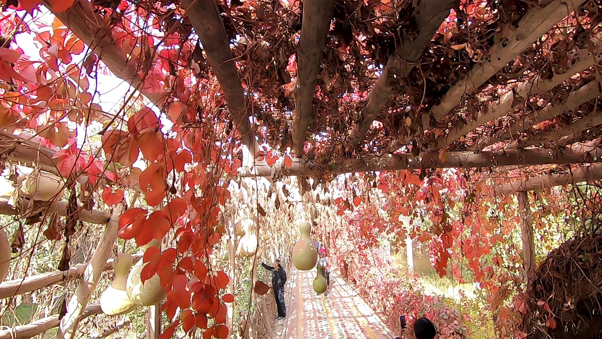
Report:
[[334,273],[328,296],[317,295],[312,287],[315,274],[291,270],[285,290],[287,319],[278,339],[393,338],[364,300]]

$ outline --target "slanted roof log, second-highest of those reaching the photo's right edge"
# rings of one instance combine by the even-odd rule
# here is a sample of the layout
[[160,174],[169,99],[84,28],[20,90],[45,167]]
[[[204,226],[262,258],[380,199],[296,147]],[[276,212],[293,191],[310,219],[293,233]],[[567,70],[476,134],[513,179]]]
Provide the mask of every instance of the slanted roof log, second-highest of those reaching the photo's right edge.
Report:
[[592,80],[588,84],[580,87],[580,89],[571,92],[568,97],[561,103],[550,104],[533,114],[525,114],[517,121],[512,122],[507,127],[493,133],[491,138],[483,138],[481,142],[467,147],[469,151],[482,150],[488,145],[507,139],[517,139],[518,133],[527,130],[527,128],[540,124],[546,120],[554,118],[563,112],[572,110],[590,100],[594,100],[601,94],[600,84],[598,80]]

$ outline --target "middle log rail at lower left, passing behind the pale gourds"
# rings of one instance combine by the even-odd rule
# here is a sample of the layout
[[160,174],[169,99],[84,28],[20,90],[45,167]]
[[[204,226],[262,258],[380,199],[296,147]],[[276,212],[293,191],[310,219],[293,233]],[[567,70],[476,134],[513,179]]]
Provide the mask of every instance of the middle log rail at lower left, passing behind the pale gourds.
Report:
[[[142,258],[142,254],[132,255],[134,263]],[[55,284],[78,279],[84,273],[87,264],[78,264],[66,271],[52,271],[35,276],[13,279],[0,284],[0,299],[10,298],[18,294],[28,293]],[[107,260],[104,271],[113,269],[113,259]]]

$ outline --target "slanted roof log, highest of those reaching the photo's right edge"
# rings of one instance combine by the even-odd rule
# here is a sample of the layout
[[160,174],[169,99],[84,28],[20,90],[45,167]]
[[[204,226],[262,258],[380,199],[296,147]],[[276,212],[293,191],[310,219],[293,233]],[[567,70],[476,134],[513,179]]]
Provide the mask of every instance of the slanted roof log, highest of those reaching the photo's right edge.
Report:
[[591,39],[596,46],[594,51],[580,49],[576,54],[576,62],[569,67],[563,74],[556,74],[551,79],[546,80],[541,74],[536,74],[531,80],[521,83],[514,90],[504,94],[497,103],[491,103],[487,106],[486,112],[477,116],[476,119],[468,121],[465,125],[458,125],[450,130],[446,136],[440,138],[432,151],[441,150],[446,145],[457,141],[461,136],[467,135],[476,130],[480,125],[493,119],[500,118],[508,113],[519,109],[524,101],[529,100],[535,94],[547,92],[558,86],[573,75],[590,68],[602,60],[602,33],[598,33]]

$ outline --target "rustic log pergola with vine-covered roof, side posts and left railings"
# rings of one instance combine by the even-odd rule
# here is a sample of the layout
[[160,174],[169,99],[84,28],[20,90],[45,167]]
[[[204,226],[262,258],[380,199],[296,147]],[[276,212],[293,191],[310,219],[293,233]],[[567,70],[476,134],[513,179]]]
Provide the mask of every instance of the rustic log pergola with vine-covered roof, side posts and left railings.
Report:
[[[535,255],[524,191],[602,178],[600,165],[581,166],[602,162],[602,4],[597,0],[75,0],[66,10],[57,10],[56,0],[43,3],[90,48],[82,66],[88,75],[101,60],[175,122],[181,138],[174,148],[181,151],[185,138],[204,138],[195,134],[199,126],[213,124],[221,126],[214,135],[227,136],[213,145],[245,145],[258,156],[251,168],[238,170],[240,176],[281,173],[324,180],[353,172],[560,165],[557,173],[501,187],[503,194],[520,192],[520,209],[529,213],[521,224],[527,272],[535,268]],[[34,89],[33,100],[42,87]],[[215,90],[195,97],[206,87]],[[32,95],[21,96],[26,101]],[[203,121],[206,110],[219,113],[209,124]],[[86,119],[90,110],[87,114]],[[26,120],[21,118],[0,130],[2,159],[34,162],[61,176],[56,155],[64,149],[46,147],[46,137],[13,133],[14,125],[33,133],[32,125],[19,125]],[[122,115],[108,119],[125,120]],[[136,122],[130,126],[128,121],[130,127],[123,135],[135,134]],[[152,132],[157,136],[157,130]],[[104,160],[117,162],[114,154],[107,156],[111,147],[104,149]],[[138,157],[138,147],[133,148],[136,158],[127,159],[125,167]],[[279,157],[272,165],[260,160],[268,152]],[[156,168],[168,161],[152,155],[147,160]],[[290,162],[286,157],[292,157]],[[579,166],[567,173],[568,165]],[[183,164],[178,172],[184,172]],[[172,178],[166,173],[148,180],[160,189],[141,187],[148,206],[167,198],[149,198],[151,192],[169,189],[166,182]],[[75,193],[72,174],[65,181]],[[174,173],[172,189],[175,182]],[[34,206],[23,199],[11,204],[21,207],[24,217],[45,209],[69,220],[107,224],[88,264],[104,269],[117,238],[121,205],[111,216],[89,207],[85,211],[75,200]],[[200,200],[184,202],[184,209],[204,211],[188,206]],[[0,213],[16,214],[11,204],[0,200]],[[99,312],[98,306],[85,308],[99,280],[100,271],[92,268],[85,270],[61,318],[61,337],[75,333],[79,318]],[[14,284],[3,285],[5,294],[20,291]],[[25,290],[43,287],[26,285]],[[45,326],[57,324],[53,316]],[[157,337],[149,326],[149,337]]]

